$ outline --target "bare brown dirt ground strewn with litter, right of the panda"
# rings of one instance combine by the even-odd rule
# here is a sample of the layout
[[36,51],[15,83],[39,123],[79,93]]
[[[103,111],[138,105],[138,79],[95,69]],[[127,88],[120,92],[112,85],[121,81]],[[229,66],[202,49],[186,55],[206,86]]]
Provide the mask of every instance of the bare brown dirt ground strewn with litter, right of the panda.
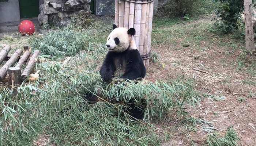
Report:
[[[236,69],[236,61],[239,60],[241,52],[237,50],[229,55],[231,48],[215,47],[201,52],[191,47],[181,50],[174,48],[177,46],[152,48],[159,53],[160,64],[151,64],[147,68],[147,80],[166,80],[174,78],[176,74],[185,74],[192,78],[195,89],[204,94],[204,97],[196,111],[191,109],[189,113],[214,123],[217,131],[234,126],[233,129],[241,138],[238,146],[255,146],[256,87],[245,84],[246,78],[250,76],[248,72]],[[199,59],[195,60],[195,55],[200,55]],[[222,58],[226,59],[224,64]],[[255,56],[249,56],[247,61],[255,61]],[[206,97],[206,94],[210,97]],[[239,98],[244,100],[240,101]],[[199,131],[191,134],[192,137],[187,142],[178,145],[187,145],[189,140],[204,145],[205,134],[199,128]]]

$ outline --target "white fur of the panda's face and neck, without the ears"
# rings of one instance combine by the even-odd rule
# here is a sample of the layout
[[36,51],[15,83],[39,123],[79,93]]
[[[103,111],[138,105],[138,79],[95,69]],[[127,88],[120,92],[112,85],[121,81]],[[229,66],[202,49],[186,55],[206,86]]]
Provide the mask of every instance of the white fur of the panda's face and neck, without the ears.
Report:
[[[118,38],[120,43],[116,45],[114,38]],[[115,28],[108,36],[106,45],[109,51],[123,52],[125,51],[130,44],[133,46],[133,49],[137,49],[136,45],[134,47],[135,41],[133,36],[128,34],[128,30],[124,27]]]

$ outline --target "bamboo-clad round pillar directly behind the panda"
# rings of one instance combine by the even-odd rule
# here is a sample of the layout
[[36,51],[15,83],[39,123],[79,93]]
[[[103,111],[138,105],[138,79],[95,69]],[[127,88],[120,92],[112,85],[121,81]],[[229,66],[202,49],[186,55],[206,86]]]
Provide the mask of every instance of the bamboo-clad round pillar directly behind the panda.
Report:
[[116,0],[115,24],[135,28],[136,46],[144,65],[149,65],[154,0]]

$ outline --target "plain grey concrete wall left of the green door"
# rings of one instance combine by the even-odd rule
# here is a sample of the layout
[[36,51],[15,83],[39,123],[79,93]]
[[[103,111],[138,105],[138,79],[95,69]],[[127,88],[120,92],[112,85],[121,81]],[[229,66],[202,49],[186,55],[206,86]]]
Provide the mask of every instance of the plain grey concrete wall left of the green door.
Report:
[[19,0],[0,2],[0,23],[20,21]]

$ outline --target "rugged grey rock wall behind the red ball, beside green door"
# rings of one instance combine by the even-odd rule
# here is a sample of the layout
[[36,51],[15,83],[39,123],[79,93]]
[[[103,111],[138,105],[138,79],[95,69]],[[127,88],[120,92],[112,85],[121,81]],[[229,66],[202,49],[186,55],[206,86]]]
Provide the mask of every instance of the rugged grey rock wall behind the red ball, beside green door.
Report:
[[90,13],[91,0],[44,0],[40,5],[38,21],[44,26],[66,26],[71,17],[82,13]]

